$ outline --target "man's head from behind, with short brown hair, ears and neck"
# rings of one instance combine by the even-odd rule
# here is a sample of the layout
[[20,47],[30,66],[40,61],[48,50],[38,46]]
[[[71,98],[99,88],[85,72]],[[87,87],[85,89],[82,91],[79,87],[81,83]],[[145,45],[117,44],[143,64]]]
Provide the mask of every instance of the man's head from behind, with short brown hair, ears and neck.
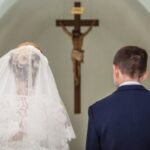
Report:
[[143,81],[147,77],[146,50],[137,46],[121,48],[113,60],[113,75],[115,84],[125,81]]

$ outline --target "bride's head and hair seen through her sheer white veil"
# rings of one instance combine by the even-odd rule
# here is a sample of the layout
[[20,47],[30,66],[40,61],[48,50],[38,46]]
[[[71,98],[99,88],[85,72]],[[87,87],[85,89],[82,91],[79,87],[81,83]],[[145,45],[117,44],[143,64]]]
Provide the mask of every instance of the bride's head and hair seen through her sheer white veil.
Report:
[[35,85],[40,64],[39,50],[38,45],[25,42],[19,44],[11,55],[10,67],[19,85],[20,94],[24,93],[21,91],[25,88],[29,88],[30,85],[33,88]]

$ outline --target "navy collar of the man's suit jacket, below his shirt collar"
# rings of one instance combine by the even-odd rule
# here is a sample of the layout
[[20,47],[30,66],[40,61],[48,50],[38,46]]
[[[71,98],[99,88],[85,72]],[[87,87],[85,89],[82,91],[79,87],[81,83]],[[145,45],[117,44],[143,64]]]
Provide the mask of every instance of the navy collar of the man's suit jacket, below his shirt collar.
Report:
[[143,85],[123,85],[117,89],[117,92],[126,91],[126,90],[146,90],[146,89],[144,88]]

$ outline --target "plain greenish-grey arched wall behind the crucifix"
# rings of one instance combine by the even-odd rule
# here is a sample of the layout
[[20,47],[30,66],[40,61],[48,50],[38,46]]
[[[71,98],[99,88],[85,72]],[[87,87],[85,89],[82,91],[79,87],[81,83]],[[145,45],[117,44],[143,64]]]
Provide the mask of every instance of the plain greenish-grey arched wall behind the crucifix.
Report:
[[[0,54],[22,41],[32,40],[42,47],[77,135],[77,139],[71,143],[71,150],[83,150],[89,105],[115,90],[112,78],[115,52],[120,47],[131,44],[146,48],[150,54],[150,16],[136,0],[83,0],[89,11],[84,17],[96,17],[100,19],[101,25],[85,38],[82,113],[76,115],[73,113],[71,40],[54,25],[55,19],[71,17],[66,11],[72,2],[62,0],[57,7],[58,1],[52,0],[18,1],[0,21]],[[150,88],[150,78],[145,85]]]

